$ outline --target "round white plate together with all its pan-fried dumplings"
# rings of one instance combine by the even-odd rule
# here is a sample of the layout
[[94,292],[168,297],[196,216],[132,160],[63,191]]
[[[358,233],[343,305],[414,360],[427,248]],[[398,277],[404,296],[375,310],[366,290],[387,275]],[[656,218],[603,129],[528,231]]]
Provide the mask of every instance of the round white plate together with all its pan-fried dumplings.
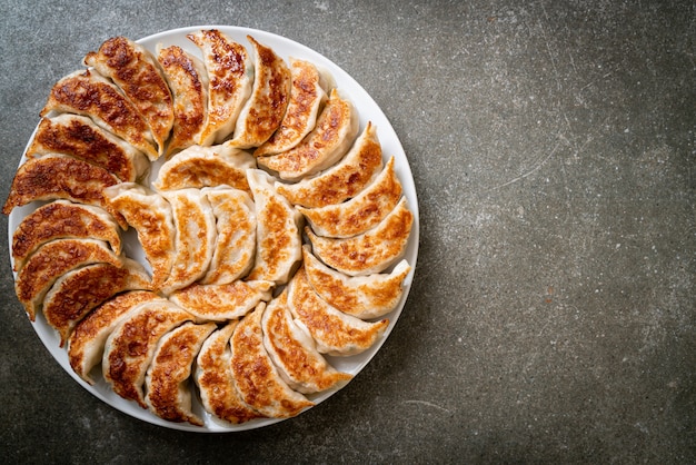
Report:
[[113,37],[49,92],[3,214],[51,355],[137,418],[233,432],[346,386],[418,250],[400,142],[336,65],[237,27]]

